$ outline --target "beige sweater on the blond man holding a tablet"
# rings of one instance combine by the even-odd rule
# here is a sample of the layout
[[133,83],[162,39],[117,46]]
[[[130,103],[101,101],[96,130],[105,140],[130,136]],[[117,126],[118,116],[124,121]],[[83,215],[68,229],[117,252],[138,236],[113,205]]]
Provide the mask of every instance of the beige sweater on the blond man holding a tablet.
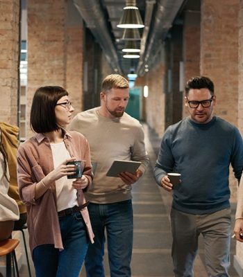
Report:
[[144,172],[149,157],[144,145],[144,132],[138,120],[124,113],[121,118],[106,118],[98,107],[77,114],[69,129],[81,132],[90,144],[91,161],[97,163],[92,186],[85,197],[92,203],[109,204],[131,199],[132,186],[119,177],[107,177],[112,162],[140,161]]

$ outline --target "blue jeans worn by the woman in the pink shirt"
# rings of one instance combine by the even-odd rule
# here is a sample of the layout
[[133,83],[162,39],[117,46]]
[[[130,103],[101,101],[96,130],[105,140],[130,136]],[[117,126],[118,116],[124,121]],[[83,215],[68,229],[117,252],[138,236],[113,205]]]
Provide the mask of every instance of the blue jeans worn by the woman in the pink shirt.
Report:
[[[87,253],[88,237],[81,213],[59,217],[64,250],[42,244],[33,250],[36,277],[77,277]],[[44,228],[43,228],[44,231]],[[49,235],[49,234],[47,234]]]

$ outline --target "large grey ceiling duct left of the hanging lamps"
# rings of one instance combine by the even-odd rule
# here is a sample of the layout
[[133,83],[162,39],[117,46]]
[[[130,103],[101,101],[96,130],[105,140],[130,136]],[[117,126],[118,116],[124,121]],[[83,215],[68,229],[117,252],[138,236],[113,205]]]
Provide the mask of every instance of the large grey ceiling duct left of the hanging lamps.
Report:
[[80,12],[87,28],[91,30],[92,34],[99,42],[109,64],[113,69],[117,69],[119,73],[122,73],[117,51],[112,42],[104,12],[99,1],[74,0],[74,6],[76,6],[78,12]]

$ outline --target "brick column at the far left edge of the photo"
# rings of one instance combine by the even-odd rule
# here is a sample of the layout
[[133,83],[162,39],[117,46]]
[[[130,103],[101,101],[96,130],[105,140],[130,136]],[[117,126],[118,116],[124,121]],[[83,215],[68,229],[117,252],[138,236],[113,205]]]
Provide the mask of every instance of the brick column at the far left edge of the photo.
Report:
[[0,121],[17,125],[19,1],[0,1]]

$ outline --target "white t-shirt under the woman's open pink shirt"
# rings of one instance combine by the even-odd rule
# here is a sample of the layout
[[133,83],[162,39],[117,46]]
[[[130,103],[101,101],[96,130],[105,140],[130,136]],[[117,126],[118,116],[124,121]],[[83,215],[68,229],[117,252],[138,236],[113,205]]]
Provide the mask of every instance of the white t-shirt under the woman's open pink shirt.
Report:
[[[51,151],[53,156],[54,168],[60,166],[62,161],[70,158],[70,154],[65,147],[64,142],[61,143],[51,143]],[[65,210],[65,208],[72,208],[73,206],[78,206],[77,201],[77,190],[72,187],[72,182],[74,179],[67,179],[64,176],[56,180],[56,198],[58,205],[58,212]]]

